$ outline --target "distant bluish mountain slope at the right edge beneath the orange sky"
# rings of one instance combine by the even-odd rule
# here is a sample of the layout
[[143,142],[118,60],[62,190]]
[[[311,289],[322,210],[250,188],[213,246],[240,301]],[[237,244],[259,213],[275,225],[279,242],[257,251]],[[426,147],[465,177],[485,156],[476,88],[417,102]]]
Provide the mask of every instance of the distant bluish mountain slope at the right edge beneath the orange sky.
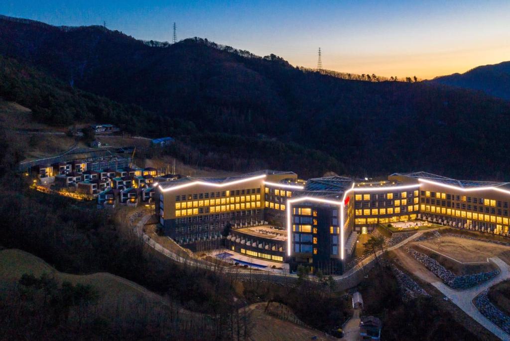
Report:
[[481,90],[510,100],[510,62],[475,67],[465,73],[436,77],[430,83]]

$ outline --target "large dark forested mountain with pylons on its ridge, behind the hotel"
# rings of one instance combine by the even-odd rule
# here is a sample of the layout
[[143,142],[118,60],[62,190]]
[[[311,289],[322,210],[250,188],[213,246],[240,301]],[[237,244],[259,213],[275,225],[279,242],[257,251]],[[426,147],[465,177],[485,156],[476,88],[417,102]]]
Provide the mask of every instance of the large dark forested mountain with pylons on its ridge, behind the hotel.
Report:
[[[330,170],[340,173],[427,170],[506,179],[510,171],[510,104],[480,92],[342,80],[198,38],[155,47],[102,27],[57,28],[5,17],[0,54],[74,88],[189,120],[199,132],[247,139],[231,140],[239,143],[264,134],[321,150],[339,160]],[[215,141],[224,145],[211,149],[235,150],[229,139]]]

